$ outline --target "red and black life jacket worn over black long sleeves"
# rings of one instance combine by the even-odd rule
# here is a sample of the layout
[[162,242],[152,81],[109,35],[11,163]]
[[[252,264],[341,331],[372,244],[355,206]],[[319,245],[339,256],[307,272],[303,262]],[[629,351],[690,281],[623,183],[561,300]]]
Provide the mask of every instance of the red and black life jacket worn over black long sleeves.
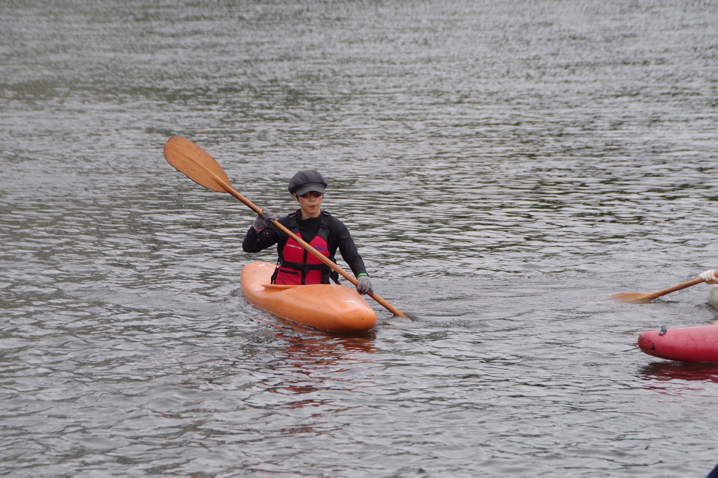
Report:
[[[299,226],[297,225],[297,211],[289,214],[289,224],[286,229],[294,232],[300,238]],[[329,257],[330,214],[322,211],[321,222],[317,235],[314,236],[309,245],[317,249],[323,256]],[[304,239],[304,238],[302,238]],[[272,275],[272,284],[329,284],[331,269],[320,259],[309,254],[304,247],[297,244],[291,237],[286,240],[284,248],[279,253],[279,266]]]

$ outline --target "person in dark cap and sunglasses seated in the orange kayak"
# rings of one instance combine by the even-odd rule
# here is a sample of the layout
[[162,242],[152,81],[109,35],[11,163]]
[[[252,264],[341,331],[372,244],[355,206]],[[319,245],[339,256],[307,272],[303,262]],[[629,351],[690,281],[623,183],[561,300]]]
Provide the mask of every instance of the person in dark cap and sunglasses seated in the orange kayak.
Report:
[[329,284],[330,278],[338,284],[337,272],[272,226],[274,221],[279,221],[332,262],[336,262],[338,247],[342,259],[359,281],[357,292],[371,295],[371,281],[349,229],[342,221],[320,209],[326,187],[327,180],[314,169],[304,169],[292,176],[287,189],[299,201],[300,209],[277,219],[271,210],[263,208],[264,214],[257,216],[247,231],[242,249],[244,252],[260,252],[276,244],[279,260],[272,274],[273,284]]

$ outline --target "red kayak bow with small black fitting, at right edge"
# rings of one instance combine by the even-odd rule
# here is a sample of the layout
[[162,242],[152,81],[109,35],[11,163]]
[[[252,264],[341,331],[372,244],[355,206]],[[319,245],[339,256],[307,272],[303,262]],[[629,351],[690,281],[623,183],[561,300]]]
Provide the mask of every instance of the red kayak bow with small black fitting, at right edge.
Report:
[[718,363],[718,325],[649,330],[638,337],[638,347],[654,357],[679,362]]

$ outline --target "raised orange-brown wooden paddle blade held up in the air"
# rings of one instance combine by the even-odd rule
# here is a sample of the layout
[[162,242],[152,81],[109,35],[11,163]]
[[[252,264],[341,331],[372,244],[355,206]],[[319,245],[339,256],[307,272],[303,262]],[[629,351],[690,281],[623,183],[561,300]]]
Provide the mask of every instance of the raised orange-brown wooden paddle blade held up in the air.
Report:
[[213,178],[214,174],[225,181],[226,184],[229,184],[229,179],[222,166],[207,151],[192,143],[192,141],[180,136],[172,136],[167,140],[167,143],[164,143],[164,158],[177,171],[180,171],[180,173],[200,186],[218,193],[229,192]]

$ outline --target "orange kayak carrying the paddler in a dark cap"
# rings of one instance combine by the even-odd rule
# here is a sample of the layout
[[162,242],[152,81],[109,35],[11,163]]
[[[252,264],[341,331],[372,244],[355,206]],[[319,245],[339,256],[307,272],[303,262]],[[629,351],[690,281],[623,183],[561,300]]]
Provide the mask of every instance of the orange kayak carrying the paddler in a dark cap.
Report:
[[376,325],[376,312],[356,290],[336,284],[270,284],[275,267],[252,262],[242,268],[242,292],[249,303],[327,332],[358,334]]

